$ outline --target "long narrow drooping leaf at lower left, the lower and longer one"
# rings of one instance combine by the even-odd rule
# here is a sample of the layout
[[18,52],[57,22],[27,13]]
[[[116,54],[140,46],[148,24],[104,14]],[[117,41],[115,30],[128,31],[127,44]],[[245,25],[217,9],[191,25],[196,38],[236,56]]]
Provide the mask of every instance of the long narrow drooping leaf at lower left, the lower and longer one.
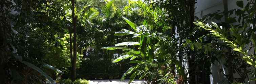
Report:
[[22,60],[20,60],[20,62],[22,62],[23,64],[27,65],[28,67],[38,71],[41,75],[43,75],[45,78],[47,78],[50,82],[54,82],[54,80],[50,76],[48,76],[46,73],[44,73],[44,71],[41,70],[40,68],[38,68],[37,66],[35,66],[29,62],[22,61]]

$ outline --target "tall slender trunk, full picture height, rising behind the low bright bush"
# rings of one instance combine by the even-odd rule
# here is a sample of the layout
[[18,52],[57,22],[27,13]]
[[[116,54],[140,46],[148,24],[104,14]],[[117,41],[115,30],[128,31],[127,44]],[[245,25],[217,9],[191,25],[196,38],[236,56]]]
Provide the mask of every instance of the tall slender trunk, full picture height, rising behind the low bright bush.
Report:
[[76,23],[77,23],[77,17],[75,16],[75,13],[74,13],[74,3],[75,3],[75,0],[72,0],[72,23],[73,23],[73,32],[74,32],[74,42],[73,42],[73,49],[74,49],[74,55],[73,55],[73,61],[72,61],[72,71],[71,71],[71,81],[75,81],[76,80],[76,63],[77,63],[77,28],[76,28]]

